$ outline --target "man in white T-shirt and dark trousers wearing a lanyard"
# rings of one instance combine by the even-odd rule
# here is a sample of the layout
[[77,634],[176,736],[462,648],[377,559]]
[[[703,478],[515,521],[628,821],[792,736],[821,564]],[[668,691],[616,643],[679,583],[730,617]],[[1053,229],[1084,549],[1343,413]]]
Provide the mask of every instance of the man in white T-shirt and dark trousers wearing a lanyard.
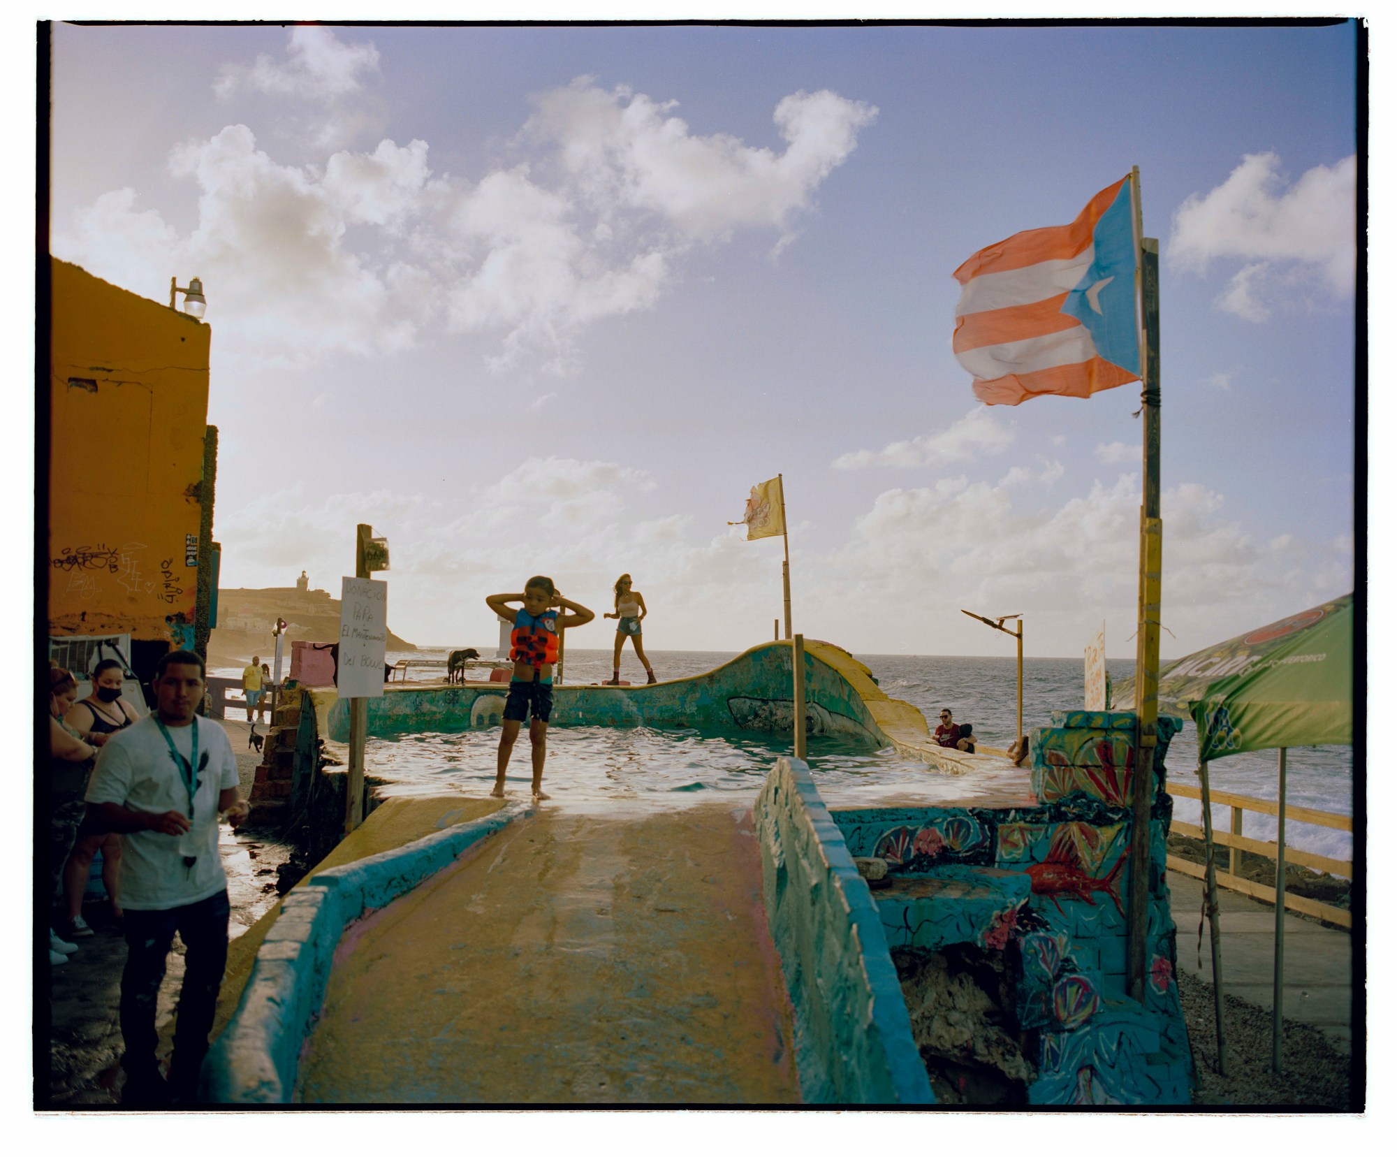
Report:
[[[221,812],[237,826],[237,764],[228,734],[194,714],[204,661],[170,651],[155,668],[155,711],[112,735],[87,789],[94,819],[122,833],[124,1104],[189,1104],[208,1051],[214,1005],[228,961],[228,882],[218,854]],[[155,1000],[179,932],[184,982],[169,1083],[155,1059]]]

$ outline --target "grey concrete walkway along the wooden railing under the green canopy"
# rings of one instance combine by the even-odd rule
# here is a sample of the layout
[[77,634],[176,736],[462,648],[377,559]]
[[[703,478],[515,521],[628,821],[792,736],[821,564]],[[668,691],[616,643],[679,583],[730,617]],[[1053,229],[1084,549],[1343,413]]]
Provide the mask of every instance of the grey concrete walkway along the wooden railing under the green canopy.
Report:
[[[1203,880],[1169,872],[1169,896],[1179,929],[1179,968],[1213,984],[1213,947],[1203,924],[1199,967],[1199,919]],[[1274,995],[1275,908],[1236,892],[1218,889],[1221,910],[1222,991],[1270,1012]],[[1285,988],[1281,1012],[1313,1024],[1337,1047],[1352,1051],[1352,940],[1348,932],[1285,915]]]

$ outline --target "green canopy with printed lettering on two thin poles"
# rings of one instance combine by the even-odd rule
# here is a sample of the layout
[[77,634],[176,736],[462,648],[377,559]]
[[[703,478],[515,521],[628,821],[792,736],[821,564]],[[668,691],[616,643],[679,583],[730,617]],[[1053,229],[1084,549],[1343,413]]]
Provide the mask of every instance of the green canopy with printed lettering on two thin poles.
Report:
[[[1113,699],[1134,699],[1134,681]],[[1203,795],[1207,908],[1213,943],[1220,1069],[1222,1051],[1222,973],[1213,857],[1213,801],[1208,763],[1229,755],[1280,749],[1275,831],[1275,975],[1271,1066],[1281,1063],[1281,988],[1285,914],[1285,750],[1354,742],[1354,595],[1322,602],[1227,643],[1176,660],[1160,672],[1160,711],[1193,718],[1199,729],[1199,780]]]

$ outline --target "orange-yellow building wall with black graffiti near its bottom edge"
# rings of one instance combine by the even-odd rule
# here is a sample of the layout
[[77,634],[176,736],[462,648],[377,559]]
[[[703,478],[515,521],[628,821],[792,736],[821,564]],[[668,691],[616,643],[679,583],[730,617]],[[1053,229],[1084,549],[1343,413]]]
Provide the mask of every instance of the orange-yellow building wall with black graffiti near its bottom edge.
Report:
[[193,639],[210,328],[52,261],[49,633]]

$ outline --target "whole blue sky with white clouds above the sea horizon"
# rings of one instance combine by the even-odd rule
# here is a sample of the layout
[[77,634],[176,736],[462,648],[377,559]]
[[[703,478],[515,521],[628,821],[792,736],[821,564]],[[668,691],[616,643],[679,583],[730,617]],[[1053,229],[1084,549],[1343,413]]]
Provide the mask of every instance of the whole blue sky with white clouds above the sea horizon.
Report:
[[[1133,653],[1139,387],[975,402],[951,271],[1132,165],[1162,250],[1166,657],[1352,588],[1355,28],[74,28],[52,247],[204,279],[224,585],[493,639]],[[609,632],[577,646],[608,646]]]

